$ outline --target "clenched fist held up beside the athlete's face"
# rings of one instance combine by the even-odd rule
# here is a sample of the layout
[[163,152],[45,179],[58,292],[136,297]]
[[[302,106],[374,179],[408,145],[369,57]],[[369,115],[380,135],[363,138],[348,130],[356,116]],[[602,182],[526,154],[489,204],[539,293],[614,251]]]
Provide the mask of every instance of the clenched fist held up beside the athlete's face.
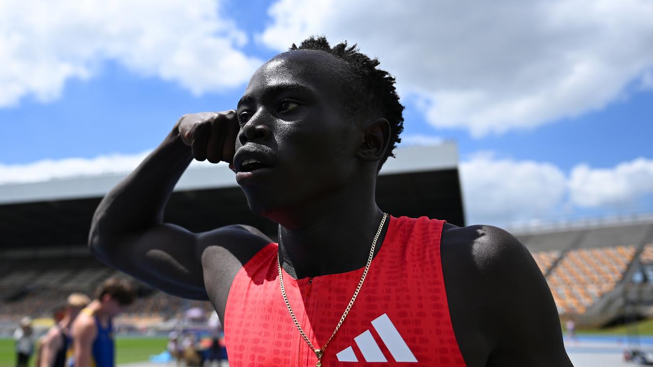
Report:
[[191,147],[198,161],[233,163],[238,135],[236,111],[187,114],[177,121],[183,143]]

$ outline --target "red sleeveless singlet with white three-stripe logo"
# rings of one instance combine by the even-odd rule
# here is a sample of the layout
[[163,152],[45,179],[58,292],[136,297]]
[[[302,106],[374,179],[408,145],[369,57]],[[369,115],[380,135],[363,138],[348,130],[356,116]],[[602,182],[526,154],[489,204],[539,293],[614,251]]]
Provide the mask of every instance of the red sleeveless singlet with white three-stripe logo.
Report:
[[[443,221],[390,217],[383,245],[323,366],[465,366],[451,327],[440,261]],[[229,365],[315,366],[281,297],[277,244],[269,244],[236,274],[225,310]],[[288,300],[315,347],[331,336],[363,268],[293,279]]]

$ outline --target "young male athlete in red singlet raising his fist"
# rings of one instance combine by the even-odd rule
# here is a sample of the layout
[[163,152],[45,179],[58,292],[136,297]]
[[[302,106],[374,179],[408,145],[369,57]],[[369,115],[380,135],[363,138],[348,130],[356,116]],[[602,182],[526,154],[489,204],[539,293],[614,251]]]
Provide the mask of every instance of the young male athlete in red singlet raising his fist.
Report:
[[[513,236],[375,204],[404,109],[378,64],[324,38],[273,57],[236,110],[183,116],[106,195],[91,248],[210,300],[231,366],[571,366],[547,283]],[[278,244],[246,225],[163,223],[193,157],[230,163]]]

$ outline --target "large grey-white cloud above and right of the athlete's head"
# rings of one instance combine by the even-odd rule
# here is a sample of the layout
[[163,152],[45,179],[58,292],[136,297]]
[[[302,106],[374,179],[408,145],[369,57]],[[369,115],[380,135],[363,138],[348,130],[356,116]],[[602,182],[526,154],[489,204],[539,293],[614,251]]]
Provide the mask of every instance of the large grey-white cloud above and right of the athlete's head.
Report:
[[653,2],[280,0],[260,39],[358,42],[436,127],[474,136],[603,108],[653,66]]

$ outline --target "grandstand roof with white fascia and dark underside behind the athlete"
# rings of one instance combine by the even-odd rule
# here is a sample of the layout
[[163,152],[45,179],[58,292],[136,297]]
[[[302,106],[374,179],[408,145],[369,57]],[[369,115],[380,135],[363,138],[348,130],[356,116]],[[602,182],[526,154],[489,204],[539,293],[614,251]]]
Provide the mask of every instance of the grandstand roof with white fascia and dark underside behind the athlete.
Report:
[[[97,204],[126,175],[0,185],[0,247],[85,244]],[[392,215],[427,215],[464,225],[456,144],[400,148],[381,170],[377,203]],[[244,223],[276,232],[274,223],[249,212],[224,164],[189,168],[168,202],[165,220],[191,231]]]

